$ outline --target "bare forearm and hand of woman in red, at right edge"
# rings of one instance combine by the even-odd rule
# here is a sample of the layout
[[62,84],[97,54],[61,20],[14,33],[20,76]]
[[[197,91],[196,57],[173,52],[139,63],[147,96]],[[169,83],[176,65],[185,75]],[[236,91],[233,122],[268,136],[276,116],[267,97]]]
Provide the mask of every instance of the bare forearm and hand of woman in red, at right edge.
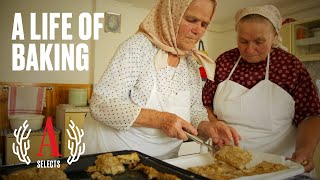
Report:
[[319,141],[320,116],[306,118],[298,126],[296,150],[292,155],[294,161],[304,165],[306,172],[314,168],[312,159]]

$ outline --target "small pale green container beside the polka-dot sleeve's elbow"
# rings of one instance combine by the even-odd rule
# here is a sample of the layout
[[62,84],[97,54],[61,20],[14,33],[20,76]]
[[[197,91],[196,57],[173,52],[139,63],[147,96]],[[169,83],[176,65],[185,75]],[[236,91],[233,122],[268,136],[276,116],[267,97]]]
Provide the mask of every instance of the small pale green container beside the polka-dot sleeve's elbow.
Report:
[[87,106],[87,89],[69,89],[68,103],[73,106]]

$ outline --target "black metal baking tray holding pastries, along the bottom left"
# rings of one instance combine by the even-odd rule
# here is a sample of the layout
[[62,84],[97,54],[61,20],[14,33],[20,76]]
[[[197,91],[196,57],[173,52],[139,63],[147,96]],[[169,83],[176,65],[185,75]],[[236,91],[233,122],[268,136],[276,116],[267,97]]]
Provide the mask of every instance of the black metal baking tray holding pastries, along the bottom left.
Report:
[[[139,151],[133,150],[126,150],[126,151],[115,151],[111,152],[114,156],[121,155],[121,154],[130,154],[136,152],[139,155],[140,162],[146,166],[153,167],[157,169],[159,172],[162,173],[169,173],[176,175],[180,179],[183,180],[207,180],[207,178],[189,172],[187,170],[181,169],[179,167],[173,166],[168,164],[164,161],[151,157],[149,155],[143,154]],[[99,153],[102,154],[102,153]],[[67,174],[69,179],[90,179],[90,173],[87,173],[85,170],[88,166],[94,165],[94,161],[96,160],[96,156],[99,154],[90,154],[90,155],[83,155],[80,159],[72,163],[66,170],[65,173]],[[60,158],[60,164],[66,163],[67,158]],[[26,164],[19,164],[19,165],[5,165],[0,166],[0,177],[1,175],[8,175],[14,171],[21,170],[21,169],[28,169],[32,167],[37,167],[37,163],[33,162],[29,165]],[[147,175],[141,171],[130,170],[126,168],[126,171],[121,174],[117,174],[112,176],[115,180],[139,180],[139,179],[147,179]]]

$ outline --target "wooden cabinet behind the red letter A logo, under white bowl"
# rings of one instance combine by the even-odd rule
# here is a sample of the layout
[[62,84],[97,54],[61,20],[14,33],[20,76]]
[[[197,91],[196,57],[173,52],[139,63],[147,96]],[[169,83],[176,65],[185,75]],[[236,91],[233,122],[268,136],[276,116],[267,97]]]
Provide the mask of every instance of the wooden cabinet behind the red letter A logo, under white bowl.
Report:
[[[23,163],[19,160],[18,156],[13,153],[12,150],[12,144],[16,143],[16,137],[13,135],[13,131],[8,131],[5,133],[5,164],[18,164]],[[47,159],[57,159],[59,157],[53,157],[51,156],[51,147],[50,146],[43,146],[42,147],[42,153],[43,156],[37,156],[41,142],[43,137],[44,131],[43,129],[31,132],[29,135],[30,140],[30,148],[27,150],[27,155],[30,158],[31,162],[35,162],[37,160],[47,160]],[[55,129],[55,137],[56,137],[56,143],[59,144],[59,134],[60,131]],[[50,144],[49,136],[46,134],[44,138],[44,144]]]

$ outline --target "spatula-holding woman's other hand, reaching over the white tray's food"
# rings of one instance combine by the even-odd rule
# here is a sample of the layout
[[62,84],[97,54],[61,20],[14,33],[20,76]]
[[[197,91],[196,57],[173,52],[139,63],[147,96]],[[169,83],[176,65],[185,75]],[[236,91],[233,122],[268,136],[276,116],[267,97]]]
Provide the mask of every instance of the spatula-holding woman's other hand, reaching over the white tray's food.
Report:
[[238,132],[223,121],[203,121],[199,124],[198,130],[199,133],[212,138],[213,143],[218,147],[231,144],[232,141],[238,146],[241,140]]

